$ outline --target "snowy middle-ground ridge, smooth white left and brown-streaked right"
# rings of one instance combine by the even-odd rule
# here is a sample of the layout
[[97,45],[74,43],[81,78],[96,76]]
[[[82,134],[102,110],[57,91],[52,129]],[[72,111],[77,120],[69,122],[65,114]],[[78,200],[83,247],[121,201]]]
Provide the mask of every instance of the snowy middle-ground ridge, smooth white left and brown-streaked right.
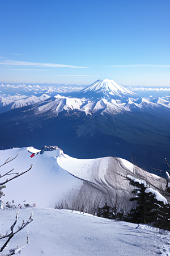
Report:
[[[1,176],[12,168],[11,173],[15,176],[33,164],[30,171],[8,182],[4,189],[3,200],[14,200],[15,204],[35,203],[39,207],[54,208],[61,201],[71,205],[79,197],[86,201],[92,195],[90,200],[100,197],[100,200],[108,201],[109,196],[114,199],[119,195],[121,205],[128,210],[131,207],[129,198],[132,188],[126,176],[141,177],[152,184],[152,188],[162,186],[164,190],[166,185],[165,179],[149,174],[121,158],[76,159],[63,154],[59,148],[40,154],[40,150],[33,147],[1,150],[0,156],[1,166],[9,157],[13,159],[16,156],[1,167]],[[122,180],[122,176],[125,179]],[[1,182],[3,179],[5,181],[6,176]]]

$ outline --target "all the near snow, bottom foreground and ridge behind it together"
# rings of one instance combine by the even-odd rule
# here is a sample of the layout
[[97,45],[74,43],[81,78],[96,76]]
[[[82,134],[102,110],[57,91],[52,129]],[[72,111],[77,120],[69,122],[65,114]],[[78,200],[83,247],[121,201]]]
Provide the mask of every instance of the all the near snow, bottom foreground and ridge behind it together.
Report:
[[[16,158],[1,166],[9,156],[10,159]],[[91,195],[93,200],[98,195],[106,200],[108,192],[113,198],[119,195],[121,205],[128,209],[133,187],[122,176],[132,179],[140,176],[147,180],[150,184],[148,192],[154,192],[159,199],[162,195],[155,190],[155,186],[161,184],[165,188],[165,179],[149,174],[125,159],[75,159],[65,155],[60,148],[43,154],[33,147],[1,150],[0,160],[1,175],[14,168],[13,175],[9,175],[8,179],[28,170],[33,164],[30,171],[7,183],[3,189],[6,195],[2,197],[5,206],[0,209],[1,235],[10,230],[18,209],[19,220],[15,230],[23,220],[28,220],[33,211],[33,222],[15,234],[8,249],[24,246],[29,230],[30,243],[22,250],[23,256],[170,256],[169,232],[99,218],[85,211],[54,209],[61,200],[73,203],[76,199],[88,200]],[[151,183],[154,183],[152,188]],[[8,208],[5,203],[12,200],[12,207]],[[1,247],[5,241],[0,240]],[[3,254],[7,254],[8,249]]]

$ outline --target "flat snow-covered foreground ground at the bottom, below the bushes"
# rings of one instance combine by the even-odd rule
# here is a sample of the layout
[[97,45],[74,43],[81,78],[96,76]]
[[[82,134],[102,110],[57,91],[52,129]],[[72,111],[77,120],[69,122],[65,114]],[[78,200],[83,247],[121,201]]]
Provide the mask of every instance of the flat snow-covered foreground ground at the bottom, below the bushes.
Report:
[[[170,236],[137,228],[137,224],[113,221],[90,214],[49,208],[24,208],[19,223],[27,219],[33,209],[33,222],[16,234],[9,247],[22,247],[22,255],[32,256],[151,256],[170,255]],[[18,209],[0,211],[1,234],[13,224]],[[0,240],[2,246],[3,241]],[[5,254],[7,251],[4,250]]]

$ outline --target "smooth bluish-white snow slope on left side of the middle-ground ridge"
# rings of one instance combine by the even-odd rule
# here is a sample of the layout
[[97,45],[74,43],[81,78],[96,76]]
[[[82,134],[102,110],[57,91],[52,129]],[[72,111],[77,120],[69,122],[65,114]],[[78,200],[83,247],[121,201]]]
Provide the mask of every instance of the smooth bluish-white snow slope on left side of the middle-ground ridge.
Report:
[[12,159],[18,154],[13,161],[1,167],[1,175],[12,168],[14,168],[12,173],[21,173],[33,164],[29,172],[6,184],[7,188],[3,189],[5,193],[3,201],[15,200],[16,204],[24,204],[25,201],[28,204],[35,203],[41,207],[54,208],[56,202],[61,199],[63,193],[67,193],[68,189],[69,191],[72,189],[73,195],[76,194],[75,190],[82,185],[82,181],[58,166],[54,156],[59,156],[59,149],[35,155],[33,158],[30,157],[31,153],[28,150],[24,147],[0,151],[0,165],[9,156]]

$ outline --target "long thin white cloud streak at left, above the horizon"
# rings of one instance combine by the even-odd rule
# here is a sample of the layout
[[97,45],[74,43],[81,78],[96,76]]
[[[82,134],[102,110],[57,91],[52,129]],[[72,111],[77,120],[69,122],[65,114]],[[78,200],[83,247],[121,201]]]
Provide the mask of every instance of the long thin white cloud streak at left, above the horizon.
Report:
[[63,65],[55,63],[37,63],[37,62],[27,62],[27,61],[16,61],[16,60],[4,60],[0,62],[1,65],[16,65],[16,66],[35,66],[35,67],[50,67],[50,68],[86,68],[77,67],[74,65]]

